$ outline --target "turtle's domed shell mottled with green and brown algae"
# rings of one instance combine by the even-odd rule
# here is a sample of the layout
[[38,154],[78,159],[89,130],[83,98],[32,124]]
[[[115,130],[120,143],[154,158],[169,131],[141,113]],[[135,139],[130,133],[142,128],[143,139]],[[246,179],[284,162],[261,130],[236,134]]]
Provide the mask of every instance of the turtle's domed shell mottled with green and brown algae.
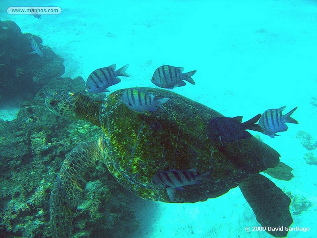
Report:
[[101,106],[105,163],[117,181],[147,200],[171,202],[165,189],[154,188],[153,176],[166,170],[212,170],[211,182],[185,186],[174,202],[197,202],[218,197],[250,174],[279,163],[277,151],[256,139],[224,143],[207,138],[207,123],[222,114],[177,93],[137,88],[155,99],[169,97],[156,112],[128,109],[120,98],[125,89],[111,93]]

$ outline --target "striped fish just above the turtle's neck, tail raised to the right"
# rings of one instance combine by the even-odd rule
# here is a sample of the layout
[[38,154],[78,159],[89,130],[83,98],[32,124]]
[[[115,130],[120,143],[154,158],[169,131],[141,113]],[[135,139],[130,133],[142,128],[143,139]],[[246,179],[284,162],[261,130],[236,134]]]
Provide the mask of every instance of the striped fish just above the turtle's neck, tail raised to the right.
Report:
[[105,68],[99,68],[94,70],[88,77],[86,82],[87,92],[89,93],[101,93],[109,92],[107,87],[120,83],[121,80],[118,76],[129,77],[125,71],[128,68],[128,64],[122,68],[116,70],[116,64],[110,65]]

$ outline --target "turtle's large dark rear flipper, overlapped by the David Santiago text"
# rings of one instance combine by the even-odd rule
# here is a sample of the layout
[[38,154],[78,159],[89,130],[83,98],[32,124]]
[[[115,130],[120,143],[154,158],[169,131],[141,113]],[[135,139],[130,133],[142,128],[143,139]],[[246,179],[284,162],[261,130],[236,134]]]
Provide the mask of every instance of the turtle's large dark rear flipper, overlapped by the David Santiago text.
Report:
[[285,237],[285,227],[293,223],[290,198],[261,174],[251,174],[239,187],[262,227],[274,237]]

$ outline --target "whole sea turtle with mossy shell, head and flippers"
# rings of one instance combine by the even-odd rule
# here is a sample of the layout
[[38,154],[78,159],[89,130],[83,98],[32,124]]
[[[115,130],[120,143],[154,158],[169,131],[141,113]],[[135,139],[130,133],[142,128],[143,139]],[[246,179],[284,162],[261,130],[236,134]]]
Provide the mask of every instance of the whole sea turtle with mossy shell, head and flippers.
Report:
[[[81,143],[64,160],[50,196],[50,229],[53,237],[69,237],[78,201],[95,161],[107,165],[113,177],[127,190],[147,200],[170,203],[165,189],[151,184],[165,170],[212,170],[209,182],[186,186],[174,203],[205,201],[239,186],[264,227],[286,227],[293,220],[289,197],[259,174],[279,164],[279,153],[255,137],[238,142],[212,142],[207,123],[220,113],[177,93],[158,88],[138,88],[157,99],[170,98],[155,112],[137,112],[120,101],[125,89],[105,100],[60,90],[50,93],[45,104],[50,111],[70,119],[84,119],[102,128],[95,143]],[[268,229],[267,229],[268,231]],[[285,229],[268,231],[275,237]]]

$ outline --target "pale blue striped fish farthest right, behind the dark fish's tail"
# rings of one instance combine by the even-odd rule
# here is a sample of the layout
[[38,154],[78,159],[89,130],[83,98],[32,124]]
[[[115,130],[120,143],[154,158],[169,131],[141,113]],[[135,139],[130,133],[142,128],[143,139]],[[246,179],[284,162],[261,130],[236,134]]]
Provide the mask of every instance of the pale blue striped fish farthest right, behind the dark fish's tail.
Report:
[[262,132],[263,134],[269,135],[273,138],[274,136],[279,136],[275,134],[276,132],[287,131],[288,127],[285,122],[298,124],[298,121],[296,121],[294,118],[291,118],[292,113],[294,113],[297,107],[295,107],[289,113],[282,115],[282,111],[285,107],[286,106],[283,106],[279,109],[268,109],[262,114],[259,120],[259,125],[264,130],[264,132]]

